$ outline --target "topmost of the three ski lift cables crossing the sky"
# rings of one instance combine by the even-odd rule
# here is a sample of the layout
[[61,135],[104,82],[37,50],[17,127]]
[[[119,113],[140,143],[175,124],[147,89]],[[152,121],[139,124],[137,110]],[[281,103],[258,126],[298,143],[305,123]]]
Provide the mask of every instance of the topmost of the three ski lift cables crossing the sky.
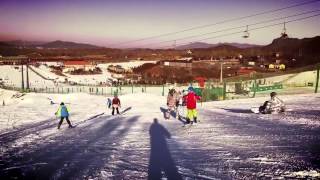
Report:
[[270,14],[270,13],[274,13],[274,12],[278,12],[278,11],[283,11],[283,10],[286,10],[286,9],[291,9],[291,8],[295,8],[295,7],[299,7],[299,6],[303,6],[303,5],[307,5],[307,4],[312,4],[312,3],[319,2],[319,1],[320,0],[306,1],[306,2],[293,4],[293,5],[282,7],[282,8],[278,8],[278,9],[272,9],[272,10],[267,10],[267,11],[263,11],[263,12],[260,12],[260,13],[255,13],[255,14],[246,15],[246,16],[242,16],[242,17],[231,18],[231,19],[219,21],[219,22],[212,23],[212,24],[195,26],[195,27],[191,27],[191,28],[187,28],[187,29],[184,29],[184,30],[175,31],[175,32],[171,32],[171,33],[164,33],[164,34],[159,34],[159,35],[155,35],[155,36],[149,36],[149,37],[146,37],[146,38],[136,39],[136,40],[132,40],[132,41],[125,41],[125,42],[120,42],[120,43],[116,43],[116,44],[110,44],[109,46],[118,46],[118,45],[122,45],[122,44],[129,44],[129,43],[133,43],[133,42],[139,42],[139,41],[145,41],[145,40],[148,40],[148,39],[159,38],[159,37],[163,37],[163,36],[175,35],[175,34],[187,32],[187,31],[192,31],[192,30],[206,28],[206,27],[215,26],[215,25],[219,25],[219,24],[224,24],[224,23],[228,23],[228,22],[247,19],[247,18],[251,18],[251,17],[255,17],[255,16],[261,16],[261,15],[264,15],[264,14]]

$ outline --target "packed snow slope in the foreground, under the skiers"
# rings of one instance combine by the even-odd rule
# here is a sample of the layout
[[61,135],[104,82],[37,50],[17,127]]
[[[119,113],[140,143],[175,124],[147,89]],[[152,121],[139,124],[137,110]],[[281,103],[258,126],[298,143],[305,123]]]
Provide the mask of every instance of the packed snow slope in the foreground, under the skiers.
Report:
[[[0,90],[0,177],[319,179],[320,95],[279,97],[291,111],[251,113],[267,96],[199,103],[200,122],[183,127],[163,96],[120,96],[111,116],[103,96]],[[75,128],[57,129],[62,101]]]

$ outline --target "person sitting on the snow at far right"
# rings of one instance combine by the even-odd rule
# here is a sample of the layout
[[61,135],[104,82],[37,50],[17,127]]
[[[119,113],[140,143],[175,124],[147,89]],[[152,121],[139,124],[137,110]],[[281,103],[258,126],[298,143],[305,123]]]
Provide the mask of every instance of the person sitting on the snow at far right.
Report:
[[264,102],[262,106],[259,107],[259,112],[262,114],[277,114],[285,111],[284,102],[278,98],[276,92],[270,93],[271,99]]

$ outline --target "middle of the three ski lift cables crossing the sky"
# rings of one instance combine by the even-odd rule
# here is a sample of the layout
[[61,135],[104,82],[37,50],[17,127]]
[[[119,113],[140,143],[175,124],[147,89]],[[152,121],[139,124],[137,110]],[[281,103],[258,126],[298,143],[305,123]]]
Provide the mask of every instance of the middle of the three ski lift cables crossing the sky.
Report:
[[[199,34],[199,35],[192,35],[192,36],[187,36],[187,37],[182,37],[182,38],[176,38],[174,39],[175,41],[181,41],[181,40],[186,40],[186,39],[191,39],[191,38],[196,38],[196,37],[201,37],[201,36],[206,36],[206,35],[210,35],[210,34],[216,34],[216,33],[220,33],[220,32],[225,32],[225,31],[231,31],[231,30],[235,30],[235,29],[242,29],[245,28],[246,26],[256,26],[259,24],[265,24],[265,23],[270,23],[270,22],[274,22],[274,21],[279,21],[282,19],[288,19],[288,18],[292,18],[292,17],[296,17],[296,16],[301,16],[301,15],[305,15],[305,14],[311,14],[314,12],[319,12],[320,10],[312,10],[312,11],[304,11],[301,13],[297,13],[297,14],[292,14],[289,16],[285,16],[285,17],[278,17],[278,18],[273,18],[273,19],[268,19],[265,21],[260,21],[260,22],[256,22],[256,23],[252,23],[252,24],[248,24],[248,25],[243,25],[243,26],[237,26],[237,27],[232,27],[232,28],[226,28],[226,29],[221,29],[221,30],[217,30],[217,31],[213,31],[213,32],[208,32],[208,33],[203,33],[203,34]],[[243,31],[242,31],[243,32]],[[164,43],[170,43],[173,40],[165,40],[165,41],[161,41],[161,42],[155,42],[155,43],[148,43],[148,44],[142,44],[139,45],[139,47],[143,47],[143,46],[153,46],[153,45],[157,45],[157,44],[164,44]]]

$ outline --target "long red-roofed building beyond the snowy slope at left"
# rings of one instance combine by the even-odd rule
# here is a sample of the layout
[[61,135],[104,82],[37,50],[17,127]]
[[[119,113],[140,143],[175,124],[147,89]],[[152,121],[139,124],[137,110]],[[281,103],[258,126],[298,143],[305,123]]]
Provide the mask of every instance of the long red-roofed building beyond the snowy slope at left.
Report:
[[96,65],[84,60],[73,60],[63,62],[63,72],[72,72],[75,70],[93,71]]

